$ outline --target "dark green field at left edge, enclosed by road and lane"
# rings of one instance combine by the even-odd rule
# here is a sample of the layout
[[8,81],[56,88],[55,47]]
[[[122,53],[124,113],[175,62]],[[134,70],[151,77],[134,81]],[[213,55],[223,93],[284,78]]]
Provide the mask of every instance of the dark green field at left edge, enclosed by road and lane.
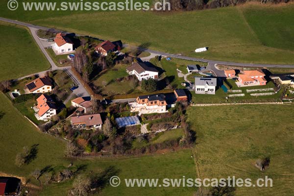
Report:
[[49,69],[49,63],[28,29],[0,22],[0,80]]

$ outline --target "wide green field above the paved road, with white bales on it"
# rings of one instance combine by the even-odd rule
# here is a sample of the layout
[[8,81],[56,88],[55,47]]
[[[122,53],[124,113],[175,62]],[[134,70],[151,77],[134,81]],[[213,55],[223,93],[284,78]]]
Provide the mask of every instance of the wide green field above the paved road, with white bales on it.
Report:
[[[0,5],[1,17],[101,39],[120,39],[131,45],[148,43],[150,49],[235,62],[294,64],[293,3],[277,6],[249,3],[169,13],[44,11],[41,14],[32,11],[23,15],[22,10],[18,15],[8,11],[5,1]],[[123,20],[116,20],[118,18]],[[209,49],[195,53],[200,47]]]

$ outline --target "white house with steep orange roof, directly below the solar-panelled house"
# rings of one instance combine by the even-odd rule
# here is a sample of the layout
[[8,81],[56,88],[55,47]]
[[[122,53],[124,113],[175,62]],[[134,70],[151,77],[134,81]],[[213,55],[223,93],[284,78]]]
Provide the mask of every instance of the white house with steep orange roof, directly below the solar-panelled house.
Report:
[[41,121],[48,121],[52,116],[57,114],[57,107],[54,100],[49,95],[42,94],[37,98],[37,106],[34,108],[37,112],[36,118]]

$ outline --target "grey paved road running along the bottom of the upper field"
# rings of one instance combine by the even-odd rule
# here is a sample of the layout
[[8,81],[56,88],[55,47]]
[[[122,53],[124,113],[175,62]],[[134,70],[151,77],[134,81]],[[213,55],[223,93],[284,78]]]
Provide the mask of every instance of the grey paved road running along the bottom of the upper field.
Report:
[[[37,28],[37,29],[49,29],[48,27],[38,26],[38,25],[31,25],[31,24],[28,24],[28,23],[24,23],[24,22],[20,22],[20,21],[14,21],[14,20],[11,20],[11,19],[1,18],[1,17],[0,17],[0,21],[13,23],[13,24],[17,24],[17,25],[24,25],[24,26],[27,26],[27,27],[32,27],[32,28]],[[209,59],[203,59],[203,58],[194,58],[194,57],[182,56],[182,55],[177,55],[177,54],[170,54],[170,53],[167,53],[167,52],[161,52],[161,51],[151,50],[151,49],[146,49],[145,51],[153,53],[153,54],[157,54],[157,55],[162,55],[162,56],[170,56],[170,57],[173,57],[173,58],[180,58],[180,59],[199,61],[199,62],[204,62],[204,63],[211,63],[213,65],[214,64],[223,64],[223,65],[231,65],[231,66],[273,67],[273,68],[293,68],[294,67],[294,65],[253,64],[253,63],[236,63],[236,62],[228,62],[228,61],[209,60]]]

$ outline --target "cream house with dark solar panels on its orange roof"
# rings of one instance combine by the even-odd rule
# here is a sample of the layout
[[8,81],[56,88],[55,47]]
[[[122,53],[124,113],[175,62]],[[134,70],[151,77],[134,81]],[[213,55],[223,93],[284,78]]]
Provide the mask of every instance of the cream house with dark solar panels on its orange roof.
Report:
[[39,77],[25,85],[29,93],[47,93],[52,91],[52,80],[47,77]]

